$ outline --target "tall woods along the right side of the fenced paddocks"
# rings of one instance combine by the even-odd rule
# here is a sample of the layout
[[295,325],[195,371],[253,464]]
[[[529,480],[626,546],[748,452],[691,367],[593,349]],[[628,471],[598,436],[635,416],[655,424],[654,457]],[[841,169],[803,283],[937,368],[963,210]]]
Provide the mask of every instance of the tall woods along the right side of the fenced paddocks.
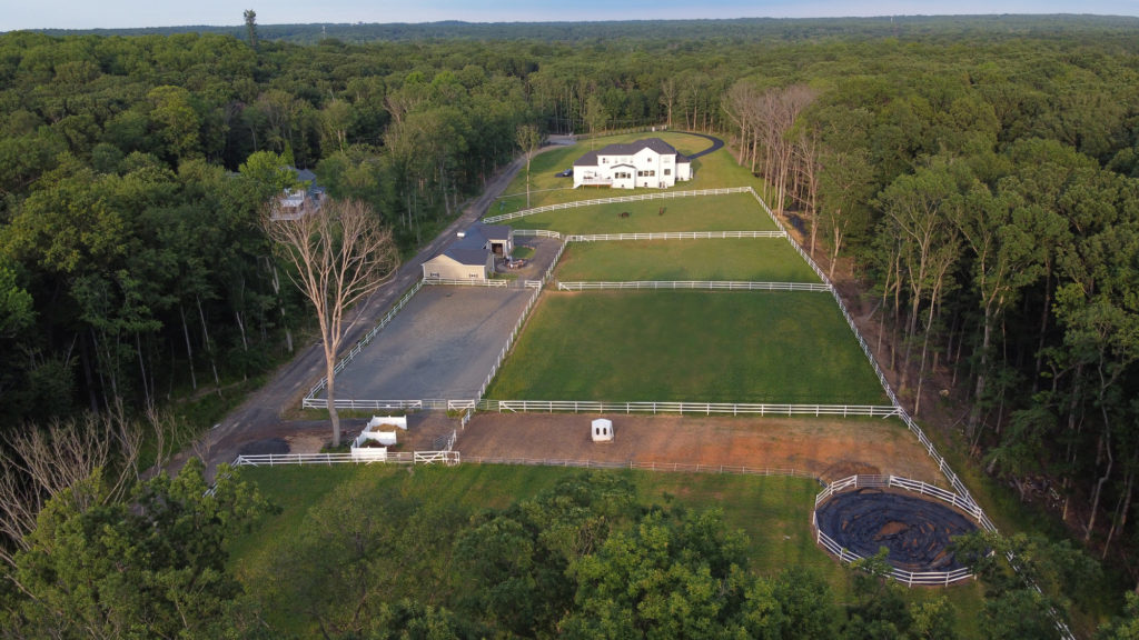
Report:
[[1139,58],[1060,41],[861,52],[735,83],[737,158],[831,273],[850,259],[913,411],[961,401],[988,470],[1106,557],[1133,535],[1139,473]]

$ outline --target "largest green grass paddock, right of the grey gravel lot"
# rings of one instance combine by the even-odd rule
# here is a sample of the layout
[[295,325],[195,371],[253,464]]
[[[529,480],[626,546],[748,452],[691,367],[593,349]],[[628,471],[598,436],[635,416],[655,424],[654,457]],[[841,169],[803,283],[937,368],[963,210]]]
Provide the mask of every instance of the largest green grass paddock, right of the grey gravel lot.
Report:
[[886,403],[821,292],[547,292],[486,396]]

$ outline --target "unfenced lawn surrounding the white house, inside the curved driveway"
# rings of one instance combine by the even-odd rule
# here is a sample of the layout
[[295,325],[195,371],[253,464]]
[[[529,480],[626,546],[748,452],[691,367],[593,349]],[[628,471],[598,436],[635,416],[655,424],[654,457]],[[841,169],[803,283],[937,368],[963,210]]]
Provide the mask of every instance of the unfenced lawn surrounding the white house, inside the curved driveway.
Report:
[[[573,178],[559,178],[558,172],[573,166],[574,161],[591,149],[600,149],[615,142],[632,142],[645,138],[661,138],[675,147],[682,154],[695,154],[708,148],[712,142],[698,136],[678,132],[642,132],[598,138],[593,141],[581,140],[574,145],[558,147],[538,154],[531,161],[530,167],[530,207],[606,198],[611,196],[628,196],[633,194],[659,192],[659,189],[608,189],[608,188],[573,188]],[[752,186],[762,194],[763,181],[752,175],[746,167],[736,164],[727,147],[714,154],[693,161],[694,177],[688,182],[678,182],[671,190],[718,189],[721,187]],[[498,204],[498,203],[501,203]],[[510,181],[498,203],[491,206],[487,215],[510,213],[530,208],[526,206],[526,167]]]

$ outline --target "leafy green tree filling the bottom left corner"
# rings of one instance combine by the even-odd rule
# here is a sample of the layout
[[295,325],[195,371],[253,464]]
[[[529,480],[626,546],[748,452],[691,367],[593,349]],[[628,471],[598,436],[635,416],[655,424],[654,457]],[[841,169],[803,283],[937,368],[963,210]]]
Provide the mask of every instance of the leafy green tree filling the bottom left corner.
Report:
[[18,596],[5,604],[5,634],[222,637],[243,591],[226,572],[226,539],[268,504],[228,469],[208,487],[203,469],[191,459],[130,501],[109,499],[98,470],[55,495],[6,576]]

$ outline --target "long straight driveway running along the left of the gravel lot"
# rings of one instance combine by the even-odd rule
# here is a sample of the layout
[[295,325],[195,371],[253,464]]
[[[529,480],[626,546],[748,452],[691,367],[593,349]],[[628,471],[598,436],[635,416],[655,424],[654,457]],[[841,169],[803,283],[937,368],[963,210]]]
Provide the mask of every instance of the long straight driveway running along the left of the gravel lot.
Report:
[[[539,153],[554,148],[546,147]],[[478,220],[491,203],[506,190],[510,180],[524,166],[524,158],[518,158],[498,173],[487,184],[483,195],[474,202],[466,203],[466,208],[458,220],[443,230],[434,240],[425,246],[413,259],[400,266],[395,277],[376,290],[363,303],[358,305],[345,319],[347,328],[344,334],[344,351],[349,351],[363,335],[369,331],[379,318],[387,312],[423,274],[420,264],[450,244],[460,229],[466,229]],[[267,437],[267,426],[274,425],[278,435],[288,435],[302,425],[282,422],[281,416],[288,408],[298,407],[309,388],[323,377],[323,351],[320,344],[298,347],[292,362],[281,367],[264,387],[253,393],[245,402],[227,416],[220,425],[211,429],[203,440],[177,456],[166,466],[174,471],[190,456],[200,454],[205,458],[207,476],[212,477],[214,469],[221,462],[231,462],[237,452],[253,440]],[[343,425],[342,425],[343,427]],[[273,428],[273,427],[269,427]],[[311,428],[305,422],[303,428]],[[329,427],[331,430],[331,427]]]

